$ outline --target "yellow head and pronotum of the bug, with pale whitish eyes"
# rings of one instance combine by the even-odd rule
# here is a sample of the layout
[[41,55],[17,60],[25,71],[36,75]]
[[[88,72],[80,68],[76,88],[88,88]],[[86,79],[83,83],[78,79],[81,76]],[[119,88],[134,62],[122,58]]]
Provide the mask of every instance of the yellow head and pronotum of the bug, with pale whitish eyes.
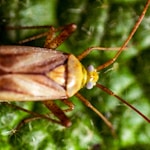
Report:
[[87,89],[93,88],[98,78],[98,72],[92,65],[85,69],[74,55],[69,56],[67,79],[67,91],[69,95],[74,95],[84,86]]

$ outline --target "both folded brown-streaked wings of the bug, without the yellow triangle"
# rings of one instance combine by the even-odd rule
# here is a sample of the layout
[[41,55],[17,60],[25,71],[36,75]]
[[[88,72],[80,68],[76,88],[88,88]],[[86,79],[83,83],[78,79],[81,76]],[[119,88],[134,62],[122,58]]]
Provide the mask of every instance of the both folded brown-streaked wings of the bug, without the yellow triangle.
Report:
[[0,101],[66,98],[65,87],[46,74],[67,58],[45,48],[0,46]]

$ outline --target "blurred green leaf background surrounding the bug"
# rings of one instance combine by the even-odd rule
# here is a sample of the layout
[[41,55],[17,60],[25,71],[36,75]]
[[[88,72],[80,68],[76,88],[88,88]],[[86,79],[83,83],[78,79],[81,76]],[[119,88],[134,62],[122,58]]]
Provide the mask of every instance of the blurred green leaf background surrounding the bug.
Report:
[[[77,24],[73,35],[58,50],[79,55],[91,46],[119,47],[128,37],[146,0],[1,0],[0,44],[18,41],[45,30],[6,30],[7,26],[60,27]],[[44,38],[24,45],[44,45]],[[94,51],[82,63],[87,67],[102,65],[116,52]],[[150,117],[150,9],[142,24],[114,65],[100,72],[99,83],[114,91]],[[94,87],[82,89],[85,96],[115,128],[114,138],[104,122],[80,100],[72,97],[75,109],[67,113],[72,126],[64,128],[47,120],[25,124],[17,133],[11,131],[28,114],[0,103],[0,150],[148,150],[150,126],[143,118],[116,98]],[[41,102],[14,102],[29,110],[46,113]],[[58,101],[59,104],[59,101]],[[62,103],[59,104],[60,107]]]

